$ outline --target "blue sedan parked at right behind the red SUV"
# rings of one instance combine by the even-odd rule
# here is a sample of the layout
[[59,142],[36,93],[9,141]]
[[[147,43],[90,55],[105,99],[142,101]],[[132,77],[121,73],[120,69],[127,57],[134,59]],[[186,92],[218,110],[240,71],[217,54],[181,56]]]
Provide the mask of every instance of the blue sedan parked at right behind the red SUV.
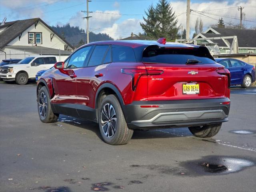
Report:
[[253,65],[230,58],[215,58],[215,60],[230,71],[231,85],[241,85],[248,88],[255,82],[256,72]]

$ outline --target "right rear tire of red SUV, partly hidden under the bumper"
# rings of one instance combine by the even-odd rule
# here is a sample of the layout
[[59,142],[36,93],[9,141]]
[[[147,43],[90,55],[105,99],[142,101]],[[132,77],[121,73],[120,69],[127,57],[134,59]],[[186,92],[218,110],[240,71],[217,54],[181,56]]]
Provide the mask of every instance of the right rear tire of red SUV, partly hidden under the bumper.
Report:
[[202,127],[189,127],[190,132],[196,136],[201,138],[213,137],[215,136],[221,128],[222,123],[204,125]]

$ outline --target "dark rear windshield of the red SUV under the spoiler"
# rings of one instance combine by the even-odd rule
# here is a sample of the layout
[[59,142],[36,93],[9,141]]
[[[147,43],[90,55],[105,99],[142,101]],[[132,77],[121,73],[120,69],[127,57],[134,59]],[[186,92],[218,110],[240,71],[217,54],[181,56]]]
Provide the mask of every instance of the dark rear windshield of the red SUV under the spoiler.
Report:
[[178,47],[147,47],[142,56],[142,62],[164,64],[186,64],[188,60],[198,60],[198,64],[216,63],[205,47],[178,48]]

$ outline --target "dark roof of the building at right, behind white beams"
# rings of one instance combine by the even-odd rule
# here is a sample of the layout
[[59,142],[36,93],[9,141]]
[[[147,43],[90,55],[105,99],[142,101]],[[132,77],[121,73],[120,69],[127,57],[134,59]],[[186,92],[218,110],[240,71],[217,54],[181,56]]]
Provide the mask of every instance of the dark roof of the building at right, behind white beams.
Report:
[[[237,36],[239,47],[253,47],[256,48],[256,30],[248,29],[227,29],[227,28],[212,28],[220,34],[202,33],[206,38],[208,37],[224,37],[224,36]],[[230,44],[232,39],[227,39]],[[211,40],[218,43],[220,47],[226,47],[222,40]]]

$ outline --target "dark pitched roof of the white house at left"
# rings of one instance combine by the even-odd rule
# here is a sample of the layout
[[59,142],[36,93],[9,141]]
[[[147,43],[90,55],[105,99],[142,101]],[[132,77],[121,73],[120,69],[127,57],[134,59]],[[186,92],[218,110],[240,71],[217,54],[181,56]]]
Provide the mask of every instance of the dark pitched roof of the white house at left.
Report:
[[[46,27],[48,27],[54,34],[56,34],[58,37],[57,32],[55,32],[50,26],[48,26],[42,19],[40,18],[33,18],[33,19],[25,19],[25,20],[16,20],[12,22],[6,22],[4,25],[1,25],[0,28],[7,27],[5,30],[0,32],[0,48],[4,48],[8,43],[10,43],[12,40],[14,40],[19,34],[24,32],[27,28],[29,28],[31,25],[33,25],[36,22],[42,22]],[[69,44],[66,40],[62,39],[68,46],[71,48],[72,45]]]

